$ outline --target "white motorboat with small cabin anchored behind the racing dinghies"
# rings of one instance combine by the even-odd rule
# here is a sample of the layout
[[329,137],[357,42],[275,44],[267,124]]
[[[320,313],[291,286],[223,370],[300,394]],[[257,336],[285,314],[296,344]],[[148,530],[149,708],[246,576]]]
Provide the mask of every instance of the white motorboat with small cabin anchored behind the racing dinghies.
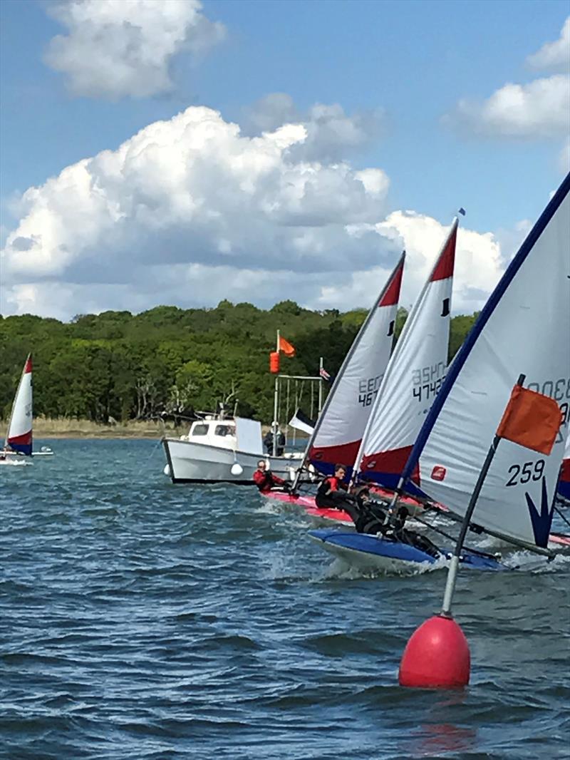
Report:
[[264,454],[261,423],[244,417],[207,415],[192,423],[188,435],[163,438],[164,473],[173,483],[234,483],[251,486],[258,461],[271,472],[294,480],[302,453],[273,457]]

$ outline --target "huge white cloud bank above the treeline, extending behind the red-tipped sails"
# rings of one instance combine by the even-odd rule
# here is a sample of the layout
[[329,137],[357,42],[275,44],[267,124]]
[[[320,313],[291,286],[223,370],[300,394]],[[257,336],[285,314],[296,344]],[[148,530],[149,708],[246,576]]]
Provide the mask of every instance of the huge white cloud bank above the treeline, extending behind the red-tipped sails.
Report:
[[[67,319],[224,298],[367,306],[404,246],[409,305],[447,228],[388,214],[382,169],[301,158],[307,139],[306,122],[247,136],[191,107],[66,167],[21,198],[0,310]],[[491,233],[461,229],[454,309],[480,308],[502,265]]]

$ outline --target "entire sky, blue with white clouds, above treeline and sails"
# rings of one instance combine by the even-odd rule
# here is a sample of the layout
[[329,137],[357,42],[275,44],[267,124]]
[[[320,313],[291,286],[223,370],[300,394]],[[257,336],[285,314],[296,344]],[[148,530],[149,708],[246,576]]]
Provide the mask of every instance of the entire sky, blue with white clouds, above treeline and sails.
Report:
[[570,3],[3,0],[0,313],[483,305],[570,168]]

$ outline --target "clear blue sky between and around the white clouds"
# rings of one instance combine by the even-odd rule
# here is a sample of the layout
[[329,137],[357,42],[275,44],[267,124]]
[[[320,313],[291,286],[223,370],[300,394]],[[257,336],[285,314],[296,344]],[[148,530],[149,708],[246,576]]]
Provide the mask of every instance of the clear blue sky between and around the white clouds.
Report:
[[[470,230],[498,234],[535,220],[563,176],[568,131],[560,116],[552,129],[547,113],[537,125],[503,128],[484,125],[477,114],[458,116],[458,103],[484,103],[509,82],[564,77],[563,64],[540,70],[527,59],[559,38],[568,2],[211,0],[201,12],[223,24],[224,39],[200,55],[173,55],[169,92],[112,99],[71,93],[68,74],[44,62],[50,40],[68,33],[46,12],[53,4],[4,0],[0,8],[3,238],[24,215],[14,198],[30,185],[116,150],[188,106],[208,106],[245,125],[269,93],[287,93],[300,115],[315,103],[340,104],[349,117],[376,113],[368,138],[348,146],[346,157],[339,147],[335,158],[354,171],[378,167],[388,176],[384,217],[409,209],[445,224],[461,205]],[[57,274],[62,283],[64,269]],[[14,276],[14,283],[25,282]],[[307,302],[316,303],[309,296]],[[2,305],[4,312],[21,308],[13,298]]]

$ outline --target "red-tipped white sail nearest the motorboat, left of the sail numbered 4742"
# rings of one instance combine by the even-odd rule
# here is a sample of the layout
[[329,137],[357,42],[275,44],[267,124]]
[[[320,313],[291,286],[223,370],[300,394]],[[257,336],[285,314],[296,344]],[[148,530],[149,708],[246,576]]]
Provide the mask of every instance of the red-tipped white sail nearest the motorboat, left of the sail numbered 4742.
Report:
[[318,418],[308,451],[321,472],[331,473],[334,464],[350,469],[356,459],[394,343],[404,259],[405,253],[356,335]]

